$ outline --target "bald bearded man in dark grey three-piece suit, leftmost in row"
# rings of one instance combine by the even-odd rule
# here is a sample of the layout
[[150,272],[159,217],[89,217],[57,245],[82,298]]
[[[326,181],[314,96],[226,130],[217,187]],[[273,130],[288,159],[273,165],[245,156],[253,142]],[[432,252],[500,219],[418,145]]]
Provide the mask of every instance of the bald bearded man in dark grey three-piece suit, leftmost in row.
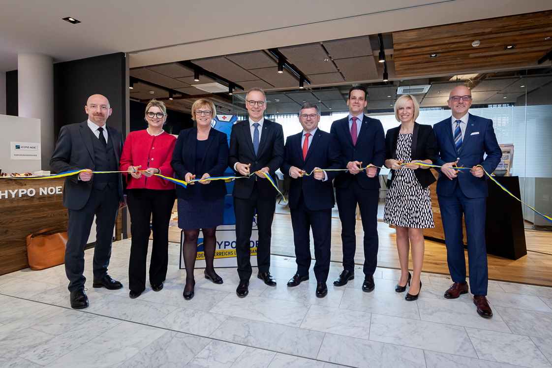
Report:
[[95,171],[118,171],[123,149],[123,135],[106,126],[111,115],[107,98],[100,94],[88,98],[84,110],[88,120],[61,128],[50,166],[56,172],[86,169],[65,178],[63,206],[67,207],[67,246],[65,273],[69,279],[71,307],[88,307],[84,292],[84,247],[88,241],[94,215],[96,241],[94,248],[93,287],[121,289],[123,284],[107,274],[113,227],[119,207],[124,206],[123,180],[120,173],[92,174]]

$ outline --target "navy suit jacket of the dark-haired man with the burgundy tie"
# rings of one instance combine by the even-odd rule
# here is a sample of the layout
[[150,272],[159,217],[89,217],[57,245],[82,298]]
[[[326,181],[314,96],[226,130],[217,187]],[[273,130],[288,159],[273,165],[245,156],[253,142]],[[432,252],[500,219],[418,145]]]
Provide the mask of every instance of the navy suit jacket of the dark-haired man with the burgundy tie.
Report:
[[[346,168],[347,163],[351,161],[362,162],[363,167],[370,163],[374,166],[383,166],[385,162],[385,133],[381,121],[364,115],[355,146],[353,146],[353,139],[349,130],[348,116],[334,121],[330,133],[337,137],[341,146],[343,168]],[[378,169],[378,174],[379,171]],[[347,188],[353,180],[357,180],[360,187],[364,189],[378,189],[380,187],[378,175],[374,178],[368,178],[364,170],[357,175],[353,175],[348,171],[337,175],[335,186],[336,188]]]

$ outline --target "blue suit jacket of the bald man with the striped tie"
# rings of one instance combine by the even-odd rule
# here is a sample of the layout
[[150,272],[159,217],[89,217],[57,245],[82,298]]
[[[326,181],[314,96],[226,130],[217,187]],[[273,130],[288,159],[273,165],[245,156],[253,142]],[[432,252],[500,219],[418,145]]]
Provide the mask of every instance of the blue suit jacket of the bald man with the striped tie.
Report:
[[[481,164],[487,173],[492,173],[502,157],[502,150],[492,128],[492,120],[469,114],[460,152],[457,152],[454,145],[451,120],[447,118],[433,126],[437,138],[437,164],[443,166],[445,163],[458,160],[459,167],[471,168]],[[484,160],[485,153],[487,157]],[[458,177],[453,180],[441,173],[437,179],[437,194],[452,195],[458,183],[466,197],[484,198],[489,196],[486,180],[485,174],[482,178],[476,178],[468,170],[461,170]]]

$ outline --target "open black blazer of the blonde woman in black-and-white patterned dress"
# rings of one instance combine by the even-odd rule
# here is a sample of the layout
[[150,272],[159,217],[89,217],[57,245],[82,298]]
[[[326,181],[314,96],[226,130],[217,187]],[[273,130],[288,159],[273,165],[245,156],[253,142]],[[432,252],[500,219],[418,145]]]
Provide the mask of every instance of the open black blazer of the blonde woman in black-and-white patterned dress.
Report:
[[[397,141],[399,140],[399,132],[401,126],[391,128],[385,135],[385,157],[386,159],[397,159]],[[412,146],[410,156],[412,160],[431,160],[431,163],[436,162],[435,158],[435,135],[431,125],[420,125],[414,122],[414,130],[412,131]],[[391,179],[388,180],[388,188],[392,185],[395,178],[396,170],[391,170]],[[422,188],[426,188],[436,181],[431,169],[416,169],[414,175]]]

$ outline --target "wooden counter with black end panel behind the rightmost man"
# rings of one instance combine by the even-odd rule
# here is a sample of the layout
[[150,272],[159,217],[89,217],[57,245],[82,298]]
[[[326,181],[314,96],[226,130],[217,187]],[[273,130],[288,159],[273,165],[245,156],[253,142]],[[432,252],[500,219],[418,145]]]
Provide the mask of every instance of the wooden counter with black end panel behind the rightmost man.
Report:
[[[431,169],[433,174],[437,173]],[[498,183],[520,198],[518,177],[495,177]],[[485,218],[485,242],[487,254],[508,259],[519,259],[527,254],[525,230],[523,225],[522,205],[500,186],[487,179],[489,197],[487,198],[487,213]],[[443,221],[437,201],[436,183],[429,186],[431,191],[431,206],[435,227],[424,229],[426,238],[444,242]],[[466,242],[466,225],[462,221],[464,245]]]

